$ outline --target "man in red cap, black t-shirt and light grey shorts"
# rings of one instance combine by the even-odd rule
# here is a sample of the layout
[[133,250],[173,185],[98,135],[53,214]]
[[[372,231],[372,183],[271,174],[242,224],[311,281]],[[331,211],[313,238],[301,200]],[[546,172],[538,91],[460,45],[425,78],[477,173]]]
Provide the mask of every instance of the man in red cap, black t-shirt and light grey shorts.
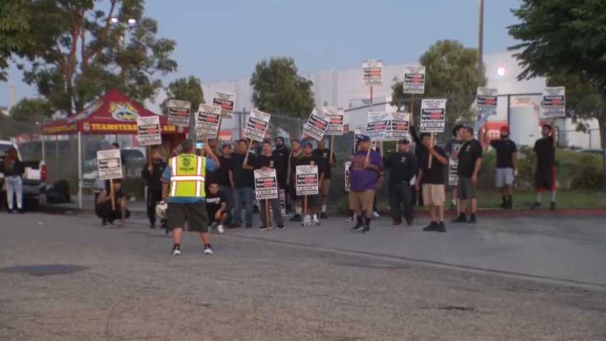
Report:
[[[486,131],[488,133],[488,131]],[[485,136],[485,141],[488,135]],[[501,189],[502,208],[513,208],[513,179],[518,174],[518,148],[509,139],[509,127],[500,128],[500,140],[492,140],[491,146],[497,153],[495,187]]]

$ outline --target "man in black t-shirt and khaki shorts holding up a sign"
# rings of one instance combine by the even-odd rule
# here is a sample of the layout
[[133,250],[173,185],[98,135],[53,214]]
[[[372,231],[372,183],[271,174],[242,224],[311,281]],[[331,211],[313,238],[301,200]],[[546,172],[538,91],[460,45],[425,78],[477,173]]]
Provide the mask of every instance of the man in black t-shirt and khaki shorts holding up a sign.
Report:
[[[431,135],[421,133],[421,143],[427,148],[426,153],[421,156],[418,178],[414,186],[423,191],[423,200],[429,206],[431,223],[423,231],[446,232],[444,226],[444,203],[446,202],[446,190],[444,187],[444,170],[448,165],[446,151],[439,146],[431,146]],[[431,168],[429,160],[431,156]],[[423,185],[421,185],[421,183]]]

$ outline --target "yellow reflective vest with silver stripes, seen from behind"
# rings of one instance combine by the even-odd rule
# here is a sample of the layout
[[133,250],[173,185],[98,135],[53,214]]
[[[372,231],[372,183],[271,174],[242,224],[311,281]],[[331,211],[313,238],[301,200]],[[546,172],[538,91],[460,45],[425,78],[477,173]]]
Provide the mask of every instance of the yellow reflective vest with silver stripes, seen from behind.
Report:
[[181,154],[170,159],[170,197],[205,197],[206,158]]

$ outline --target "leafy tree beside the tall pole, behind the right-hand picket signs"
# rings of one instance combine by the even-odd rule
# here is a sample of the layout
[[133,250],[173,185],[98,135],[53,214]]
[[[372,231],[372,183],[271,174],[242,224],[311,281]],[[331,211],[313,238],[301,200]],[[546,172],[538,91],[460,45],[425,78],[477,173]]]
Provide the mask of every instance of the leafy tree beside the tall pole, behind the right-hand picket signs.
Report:
[[[419,61],[425,66],[425,93],[423,98],[448,98],[446,125],[471,122],[476,119],[471,108],[478,88],[478,50],[463,46],[458,41],[441,40],[431,45]],[[485,72],[486,73],[486,72]],[[486,77],[481,79],[486,85]],[[409,103],[410,95],[403,93],[401,81],[391,86],[392,103]],[[415,113],[420,112],[421,101],[415,101]],[[418,120],[416,120],[418,122]]]

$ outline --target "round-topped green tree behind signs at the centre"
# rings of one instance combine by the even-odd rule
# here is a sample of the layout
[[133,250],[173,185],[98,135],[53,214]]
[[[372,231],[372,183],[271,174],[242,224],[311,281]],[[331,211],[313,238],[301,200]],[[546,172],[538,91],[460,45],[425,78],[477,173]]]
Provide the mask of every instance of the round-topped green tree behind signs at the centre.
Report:
[[252,103],[267,113],[307,118],[315,106],[313,83],[298,73],[293,58],[263,59],[250,77]]

